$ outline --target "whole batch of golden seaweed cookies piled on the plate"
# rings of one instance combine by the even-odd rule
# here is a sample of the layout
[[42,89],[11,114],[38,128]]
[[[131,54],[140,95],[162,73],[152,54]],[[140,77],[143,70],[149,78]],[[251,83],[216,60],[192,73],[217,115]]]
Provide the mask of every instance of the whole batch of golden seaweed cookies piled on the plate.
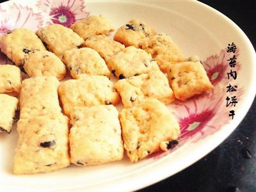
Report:
[[[1,51],[17,65],[0,65],[0,131],[10,132],[20,99],[14,173],[109,163],[124,150],[134,163],[177,143],[179,124],[166,105],[212,88],[202,63],[144,22],[130,20],[111,39],[113,31],[99,15],[1,36]],[[22,84],[19,67],[29,76]]]

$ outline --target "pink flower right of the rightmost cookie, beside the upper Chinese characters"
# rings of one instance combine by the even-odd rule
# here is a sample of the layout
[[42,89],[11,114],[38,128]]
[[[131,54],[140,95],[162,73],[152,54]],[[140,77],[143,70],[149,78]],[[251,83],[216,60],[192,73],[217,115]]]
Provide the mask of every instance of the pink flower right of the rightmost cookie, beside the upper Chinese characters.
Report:
[[[209,56],[206,61],[203,62],[204,68],[207,72],[207,76],[209,77],[211,83],[215,86],[220,83],[220,81],[228,82],[227,78],[227,70],[230,70],[228,61],[232,56],[239,56],[239,50],[236,50],[236,54],[231,54],[227,52],[227,49],[222,49],[219,55]],[[236,70],[239,70],[240,64],[237,61]]]

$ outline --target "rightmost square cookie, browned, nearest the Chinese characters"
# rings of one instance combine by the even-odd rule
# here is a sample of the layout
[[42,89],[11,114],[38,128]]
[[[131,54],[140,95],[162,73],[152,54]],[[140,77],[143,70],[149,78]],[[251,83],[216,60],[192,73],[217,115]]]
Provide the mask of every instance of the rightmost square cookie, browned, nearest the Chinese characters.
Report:
[[172,65],[168,79],[174,95],[179,100],[186,100],[213,88],[200,61],[188,61]]

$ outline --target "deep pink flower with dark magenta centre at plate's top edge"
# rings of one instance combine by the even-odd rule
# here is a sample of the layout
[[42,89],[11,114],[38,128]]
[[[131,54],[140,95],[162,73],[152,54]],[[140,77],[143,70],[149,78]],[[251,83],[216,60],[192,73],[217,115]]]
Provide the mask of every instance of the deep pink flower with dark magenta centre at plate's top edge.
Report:
[[83,0],[68,1],[38,1],[38,8],[46,13],[47,24],[62,24],[70,26],[77,20],[88,17],[89,12],[84,10]]

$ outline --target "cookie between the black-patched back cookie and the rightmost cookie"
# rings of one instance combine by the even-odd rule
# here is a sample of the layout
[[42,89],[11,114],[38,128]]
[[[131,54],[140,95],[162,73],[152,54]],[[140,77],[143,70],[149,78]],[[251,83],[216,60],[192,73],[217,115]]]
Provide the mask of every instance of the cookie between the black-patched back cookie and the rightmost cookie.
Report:
[[150,36],[141,43],[141,49],[152,55],[163,72],[167,72],[170,65],[184,61],[179,47],[164,33]]

